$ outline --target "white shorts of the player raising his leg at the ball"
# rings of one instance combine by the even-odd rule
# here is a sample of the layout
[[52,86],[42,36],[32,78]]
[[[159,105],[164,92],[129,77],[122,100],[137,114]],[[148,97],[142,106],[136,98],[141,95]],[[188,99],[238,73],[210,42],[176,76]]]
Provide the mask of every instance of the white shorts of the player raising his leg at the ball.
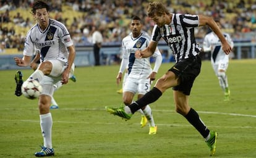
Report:
[[[50,73],[51,75],[48,75],[48,76],[45,75],[43,77],[43,80],[40,81],[40,84],[43,88],[43,91],[41,94],[53,96],[54,89],[55,89],[54,84],[61,81],[62,73],[64,72],[67,66],[65,65],[65,62],[62,62],[61,60],[48,60],[48,61],[51,62],[51,64],[53,64],[53,69],[51,70],[51,73]],[[69,77],[72,77],[72,75],[74,75],[74,69],[75,69],[75,65],[72,64]]]

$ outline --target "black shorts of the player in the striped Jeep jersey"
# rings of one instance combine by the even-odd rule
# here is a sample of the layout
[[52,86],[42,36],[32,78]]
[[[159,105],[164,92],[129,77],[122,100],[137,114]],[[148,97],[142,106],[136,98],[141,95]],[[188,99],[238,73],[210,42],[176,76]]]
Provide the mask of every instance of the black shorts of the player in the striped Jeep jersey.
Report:
[[181,91],[189,96],[195,78],[201,70],[201,59],[199,56],[189,57],[188,59],[177,62],[169,71],[175,73],[179,78],[179,85],[174,86],[174,91]]

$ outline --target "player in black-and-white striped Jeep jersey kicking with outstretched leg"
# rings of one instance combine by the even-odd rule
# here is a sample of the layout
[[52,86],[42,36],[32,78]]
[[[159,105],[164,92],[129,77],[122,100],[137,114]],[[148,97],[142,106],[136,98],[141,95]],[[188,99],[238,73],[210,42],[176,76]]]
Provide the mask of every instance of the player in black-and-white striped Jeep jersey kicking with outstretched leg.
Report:
[[155,52],[158,41],[163,38],[173,51],[176,63],[156,81],[155,86],[142,98],[129,106],[106,107],[106,109],[114,115],[130,119],[138,109],[155,102],[166,89],[173,88],[176,112],[184,116],[205,138],[210,148],[210,155],[213,155],[216,151],[217,133],[210,131],[197,112],[189,106],[190,91],[201,69],[201,59],[198,56],[200,47],[195,41],[194,28],[208,25],[220,39],[225,54],[229,54],[232,48],[211,17],[170,13],[160,1],[150,2],[148,17],[155,22],[151,41],[146,49],[135,52],[135,57],[140,59],[151,56]]

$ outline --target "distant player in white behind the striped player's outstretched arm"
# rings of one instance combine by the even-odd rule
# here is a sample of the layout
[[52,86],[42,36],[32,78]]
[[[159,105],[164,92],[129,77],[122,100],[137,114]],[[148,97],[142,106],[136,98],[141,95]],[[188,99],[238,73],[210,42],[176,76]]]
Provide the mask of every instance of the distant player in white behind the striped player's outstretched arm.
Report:
[[[220,20],[215,20],[215,22],[221,28]],[[229,34],[223,33],[223,35],[231,47],[233,47],[234,43]],[[208,33],[203,39],[203,51],[211,52],[211,65],[216,77],[218,77],[221,89],[223,89],[224,101],[229,101],[230,91],[228,88],[228,76],[226,75],[229,55],[226,55],[223,49],[221,49],[221,41],[213,31]]]

